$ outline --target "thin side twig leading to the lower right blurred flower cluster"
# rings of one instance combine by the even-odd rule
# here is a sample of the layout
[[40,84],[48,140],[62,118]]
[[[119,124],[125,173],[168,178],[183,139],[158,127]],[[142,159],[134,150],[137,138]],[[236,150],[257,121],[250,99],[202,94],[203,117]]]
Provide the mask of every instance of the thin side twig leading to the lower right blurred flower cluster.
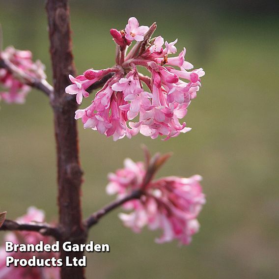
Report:
[[98,210],[97,212],[93,213],[91,216],[89,216],[85,221],[84,221],[84,226],[89,229],[91,226],[94,224],[98,223],[98,221],[105,216],[107,213],[111,212],[113,209],[117,208],[118,206],[124,204],[125,202],[140,198],[142,195],[142,192],[140,190],[133,192],[130,195],[127,195],[121,199],[117,199],[113,201],[112,203],[106,205],[102,209]]

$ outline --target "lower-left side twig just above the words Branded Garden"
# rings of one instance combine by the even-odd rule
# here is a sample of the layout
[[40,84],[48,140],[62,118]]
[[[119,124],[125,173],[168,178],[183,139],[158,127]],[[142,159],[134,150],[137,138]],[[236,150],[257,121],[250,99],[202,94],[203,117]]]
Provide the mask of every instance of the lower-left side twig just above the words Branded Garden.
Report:
[[17,223],[12,220],[5,220],[0,230],[27,230],[36,231],[42,235],[51,235],[59,239],[60,232],[58,228],[47,223]]

